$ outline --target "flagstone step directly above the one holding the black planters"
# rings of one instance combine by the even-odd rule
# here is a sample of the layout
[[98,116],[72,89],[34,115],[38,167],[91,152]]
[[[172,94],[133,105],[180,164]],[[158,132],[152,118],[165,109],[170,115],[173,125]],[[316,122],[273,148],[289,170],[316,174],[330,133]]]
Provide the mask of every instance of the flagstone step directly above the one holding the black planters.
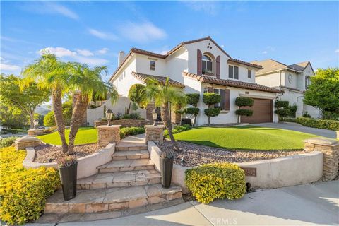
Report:
[[126,172],[106,172],[78,179],[78,189],[106,189],[122,186],[142,186],[159,184],[160,173],[155,169],[134,170]]

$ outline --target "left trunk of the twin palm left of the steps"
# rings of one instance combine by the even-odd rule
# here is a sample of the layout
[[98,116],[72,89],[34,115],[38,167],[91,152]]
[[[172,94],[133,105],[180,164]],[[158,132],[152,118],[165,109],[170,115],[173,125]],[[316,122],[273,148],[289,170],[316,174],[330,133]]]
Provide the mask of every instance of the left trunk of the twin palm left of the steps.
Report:
[[65,138],[65,124],[64,117],[62,116],[62,95],[61,90],[59,88],[52,90],[52,103],[55,124],[57,124],[57,130],[61,138],[62,152],[67,153],[69,150],[69,145],[67,145]]

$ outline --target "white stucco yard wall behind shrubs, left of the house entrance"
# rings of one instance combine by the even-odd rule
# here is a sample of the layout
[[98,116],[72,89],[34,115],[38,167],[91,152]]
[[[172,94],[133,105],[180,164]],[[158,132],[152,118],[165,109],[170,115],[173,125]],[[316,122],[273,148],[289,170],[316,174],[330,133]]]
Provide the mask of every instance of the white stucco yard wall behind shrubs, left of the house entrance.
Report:
[[[129,107],[129,104],[131,103],[131,100],[129,100],[128,97],[120,96],[116,104],[112,104],[110,100],[107,100],[102,103],[100,107],[94,108],[94,109],[87,109],[87,122],[90,126],[94,126],[94,121],[99,120],[99,118],[105,118],[105,106],[106,109],[110,108],[112,109],[112,112],[114,114],[120,113],[124,114],[125,107]],[[132,109],[130,110],[130,113],[134,112]],[[136,112],[140,113],[140,116],[144,119],[146,118],[146,110],[139,108]]]

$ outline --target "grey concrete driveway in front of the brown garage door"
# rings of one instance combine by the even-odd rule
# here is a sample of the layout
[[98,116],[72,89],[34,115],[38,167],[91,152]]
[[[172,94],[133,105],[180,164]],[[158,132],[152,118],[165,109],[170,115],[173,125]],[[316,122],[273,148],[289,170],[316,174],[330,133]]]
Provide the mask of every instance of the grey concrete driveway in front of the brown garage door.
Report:
[[260,124],[251,124],[253,126],[262,126],[269,128],[278,128],[278,129],[288,129],[293,131],[299,131],[303,133],[311,133],[318,136],[324,136],[327,138],[336,138],[336,133],[333,130],[329,129],[316,129],[307,126],[302,126],[294,122],[280,122],[280,123],[260,123]]

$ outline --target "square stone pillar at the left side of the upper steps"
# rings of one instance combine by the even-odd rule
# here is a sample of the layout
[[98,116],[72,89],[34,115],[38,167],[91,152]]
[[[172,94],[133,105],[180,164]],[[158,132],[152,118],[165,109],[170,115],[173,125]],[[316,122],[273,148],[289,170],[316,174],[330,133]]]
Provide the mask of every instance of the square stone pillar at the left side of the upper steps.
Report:
[[120,125],[97,126],[97,144],[100,147],[118,141],[120,141]]

